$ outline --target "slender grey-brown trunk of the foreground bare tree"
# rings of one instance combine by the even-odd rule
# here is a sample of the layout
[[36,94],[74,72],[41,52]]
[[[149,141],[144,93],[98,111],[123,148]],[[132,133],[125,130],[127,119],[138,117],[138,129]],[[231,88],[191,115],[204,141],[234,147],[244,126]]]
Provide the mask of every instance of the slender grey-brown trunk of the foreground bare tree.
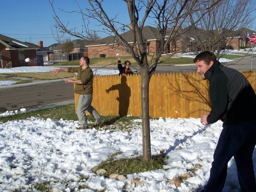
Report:
[[141,67],[141,117],[143,162],[151,158],[150,123],[149,123],[149,72],[147,66]]

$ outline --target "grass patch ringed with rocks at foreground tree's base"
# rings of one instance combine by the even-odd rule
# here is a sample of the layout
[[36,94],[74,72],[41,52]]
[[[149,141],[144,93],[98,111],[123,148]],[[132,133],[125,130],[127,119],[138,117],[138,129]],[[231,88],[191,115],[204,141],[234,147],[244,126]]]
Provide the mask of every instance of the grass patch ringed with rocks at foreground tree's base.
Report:
[[98,169],[105,169],[107,172],[104,174],[105,177],[109,177],[111,174],[127,175],[133,173],[141,173],[145,171],[152,171],[156,169],[163,169],[162,165],[167,165],[163,155],[153,155],[148,162],[142,162],[142,156],[134,158],[120,158],[115,159],[114,156],[121,154],[116,152],[105,161],[102,161],[98,165]]

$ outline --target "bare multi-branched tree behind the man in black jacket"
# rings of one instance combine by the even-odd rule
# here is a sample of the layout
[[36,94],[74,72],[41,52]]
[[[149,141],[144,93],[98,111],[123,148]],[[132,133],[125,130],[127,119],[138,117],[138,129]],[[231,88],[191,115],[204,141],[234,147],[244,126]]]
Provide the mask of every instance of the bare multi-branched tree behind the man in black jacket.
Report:
[[235,30],[250,26],[255,20],[255,10],[254,0],[222,0],[197,23],[194,21],[202,12],[192,13],[190,22],[194,26],[191,31],[200,42],[198,49],[215,52],[217,59],[221,58],[234,47],[232,39],[241,35],[241,31]]

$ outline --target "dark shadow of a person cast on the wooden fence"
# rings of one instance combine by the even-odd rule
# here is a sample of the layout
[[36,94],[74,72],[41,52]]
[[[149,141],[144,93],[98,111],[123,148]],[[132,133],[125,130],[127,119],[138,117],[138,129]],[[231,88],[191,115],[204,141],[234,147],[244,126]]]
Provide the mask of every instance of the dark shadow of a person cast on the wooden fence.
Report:
[[109,91],[118,90],[119,95],[116,100],[119,102],[118,114],[120,117],[127,115],[130,104],[131,89],[127,85],[126,81],[127,78],[124,75],[121,77],[121,83],[118,83],[117,85],[113,85],[109,89],[106,89],[107,94],[109,93]]

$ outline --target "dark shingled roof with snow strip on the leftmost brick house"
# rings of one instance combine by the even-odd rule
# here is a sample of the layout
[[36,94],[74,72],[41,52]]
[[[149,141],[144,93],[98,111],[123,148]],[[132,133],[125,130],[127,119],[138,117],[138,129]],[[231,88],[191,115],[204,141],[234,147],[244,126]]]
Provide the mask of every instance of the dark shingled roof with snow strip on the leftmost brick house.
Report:
[[7,50],[37,49],[36,45],[32,43],[22,42],[17,39],[13,39],[1,34],[0,43],[5,45],[7,47]]

